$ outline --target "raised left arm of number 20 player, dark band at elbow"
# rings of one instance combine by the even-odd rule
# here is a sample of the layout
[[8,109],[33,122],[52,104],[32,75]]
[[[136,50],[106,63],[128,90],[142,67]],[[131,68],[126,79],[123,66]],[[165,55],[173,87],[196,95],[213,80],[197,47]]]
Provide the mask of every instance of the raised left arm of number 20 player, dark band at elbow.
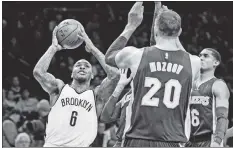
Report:
[[[119,67],[119,68],[129,68],[126,66],[118,65],[117,62],[115,61],[116,60],[115,57],[125,47],[125,45],[127,44],[133,32],[141,24],[142,19],[143,19],[143,12],[144,12],[144,7],[142,6],[142,4],[143,4],[142,2],[136,2],[133,5],[133,7],[131,8],[128,14],[128,23],[124,31],[111,44],[111,46],[107,50],[106,55],[105,55],[105,61],[108,65],[113,66],[113,67]],[[129,49],[129,48],[126,48],[126,49]],[[124,51],[125,52],[122,52],[121,54],[118,55],[118,59],[121,61],[126,60],[126,59],[123,59],[123,57],[128,57],[131,54],[127,50],[124,50]],[[122,62],[122,64],[124,64],[124,62]]]

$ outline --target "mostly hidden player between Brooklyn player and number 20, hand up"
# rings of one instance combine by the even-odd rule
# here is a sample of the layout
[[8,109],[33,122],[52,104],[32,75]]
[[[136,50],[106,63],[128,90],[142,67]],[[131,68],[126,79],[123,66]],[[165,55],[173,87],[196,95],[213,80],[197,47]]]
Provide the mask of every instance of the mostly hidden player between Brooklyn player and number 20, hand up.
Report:
[[112,96],[109,98],[107,103],[105,104],[103,111],[100,116],[100,121],[104,123],[114,122],[117,121],[119,127],[116,133],[117,136],[117,143],[114,147],[121,147],[122,140],[124,135],[125,129],[125,118],[127,112],[127,106],[129,101],[131,100],[132,91],[130,90],[127,92],[122,99],[119,101],[119,96],[121,95],[124,87],[132,80],[132,76],[127,78],[127,70],[120,69],[121,77],[116,86],[115,91],[113,92]]

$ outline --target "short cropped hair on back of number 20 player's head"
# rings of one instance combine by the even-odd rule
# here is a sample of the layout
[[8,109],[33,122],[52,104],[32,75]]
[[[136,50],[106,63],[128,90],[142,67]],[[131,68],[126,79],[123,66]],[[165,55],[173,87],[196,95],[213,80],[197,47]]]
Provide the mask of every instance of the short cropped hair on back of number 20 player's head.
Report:
[[158,15],[156,25],[164,36],[179,36],[181,17],[175,11],[166,10]]

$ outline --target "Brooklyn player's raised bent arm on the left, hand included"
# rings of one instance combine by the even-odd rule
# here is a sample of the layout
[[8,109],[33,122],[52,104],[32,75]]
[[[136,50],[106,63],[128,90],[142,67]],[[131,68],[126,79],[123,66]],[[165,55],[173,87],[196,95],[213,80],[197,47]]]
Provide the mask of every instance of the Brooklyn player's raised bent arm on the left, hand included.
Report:
[[57,42],[56,32],[57,27],[55,27],[53,31],[52,45],[40,58],[33,70],[33,75],[35,79],[40,83],[41,87],[50,95],[53,93],[57,93],[59,91],[59,87],[64,84],[61,80],[56,79],[52,74],[47,72],[53,56],[57,51],[62,49],[62,47]]

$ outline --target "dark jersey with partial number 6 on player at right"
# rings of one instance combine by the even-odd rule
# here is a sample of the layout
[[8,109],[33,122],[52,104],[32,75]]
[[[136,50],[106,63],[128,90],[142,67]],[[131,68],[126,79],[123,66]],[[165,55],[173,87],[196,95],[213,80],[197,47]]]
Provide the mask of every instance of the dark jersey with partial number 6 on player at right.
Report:
[[[217,78],[212,78],[191,93],[191,138],[210,137],[216,126],[216,102],[212,94],[212,86]],[[209,136],[208,136],[209,135]]]

